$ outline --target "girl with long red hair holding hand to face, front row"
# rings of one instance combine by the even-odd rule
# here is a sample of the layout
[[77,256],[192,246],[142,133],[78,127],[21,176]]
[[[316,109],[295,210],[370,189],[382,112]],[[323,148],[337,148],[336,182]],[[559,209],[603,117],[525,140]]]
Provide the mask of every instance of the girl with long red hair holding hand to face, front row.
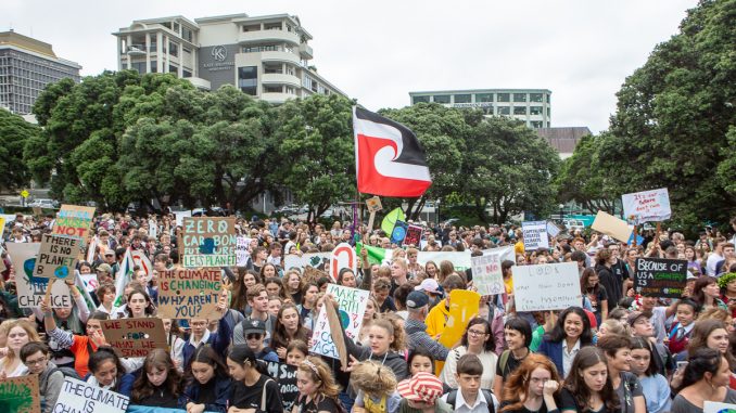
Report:
[[529,354],[504,386],[500,412],[545,413],[557,409],[560,376],[548,358]]

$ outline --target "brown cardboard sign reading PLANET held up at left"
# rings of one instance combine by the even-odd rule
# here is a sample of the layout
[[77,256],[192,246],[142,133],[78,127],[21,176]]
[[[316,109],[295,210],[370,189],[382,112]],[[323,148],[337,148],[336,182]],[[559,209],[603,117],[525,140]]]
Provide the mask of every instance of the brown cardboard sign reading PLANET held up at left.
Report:
[[79,240],[43,234],[34,274],[43,279],[66,280],[74,276],[78,257]]

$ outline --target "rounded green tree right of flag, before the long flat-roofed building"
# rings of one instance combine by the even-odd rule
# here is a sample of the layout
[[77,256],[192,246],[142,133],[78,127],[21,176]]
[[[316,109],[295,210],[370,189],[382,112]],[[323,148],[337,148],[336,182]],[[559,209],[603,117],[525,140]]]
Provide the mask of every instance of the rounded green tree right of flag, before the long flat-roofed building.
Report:
[[490,117],[473,128],[467,145],[459,177],[479,219],[488,221],[488,206],[496,223],[522,211],[542,216],[551,210],[551,179],[560,160],[532,129],[518,120]]

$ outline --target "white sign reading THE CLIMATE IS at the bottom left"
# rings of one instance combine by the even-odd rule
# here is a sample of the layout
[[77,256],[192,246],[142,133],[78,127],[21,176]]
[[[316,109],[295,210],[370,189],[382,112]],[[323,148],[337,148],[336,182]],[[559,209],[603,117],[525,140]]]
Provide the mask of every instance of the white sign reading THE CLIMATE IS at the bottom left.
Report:
[[72,377],[64,377],[53,412],[125,413],[130,399]]

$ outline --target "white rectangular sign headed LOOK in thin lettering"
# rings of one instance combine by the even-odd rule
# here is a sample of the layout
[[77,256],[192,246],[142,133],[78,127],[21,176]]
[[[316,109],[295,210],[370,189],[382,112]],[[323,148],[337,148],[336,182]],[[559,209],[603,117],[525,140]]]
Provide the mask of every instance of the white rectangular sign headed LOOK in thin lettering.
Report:
[[513,266],[517,311],[562,310],[583,305],[578,263]]

